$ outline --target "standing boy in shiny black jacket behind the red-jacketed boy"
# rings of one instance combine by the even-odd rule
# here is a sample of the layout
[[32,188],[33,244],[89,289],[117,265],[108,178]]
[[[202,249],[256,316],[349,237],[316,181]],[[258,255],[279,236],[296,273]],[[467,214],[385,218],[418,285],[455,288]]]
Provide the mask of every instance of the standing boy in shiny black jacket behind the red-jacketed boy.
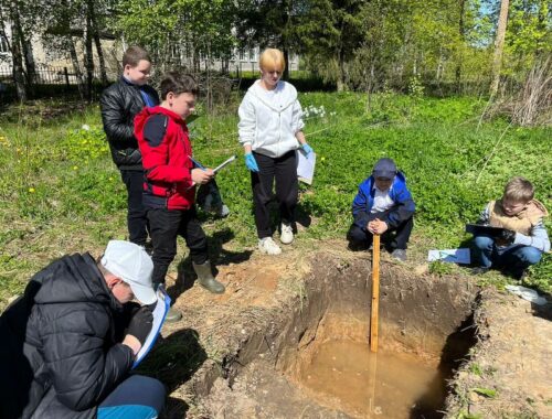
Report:
[[99,104],[112,158],[127,186],[129,240],[145,246],[148,217],[141,203],[144,169],[134,119],[145,107],[159,105],[159,96],[148,86],[151,58],[146,50],[130,46],[123,55],[123,67],[121,77],[104,90]]

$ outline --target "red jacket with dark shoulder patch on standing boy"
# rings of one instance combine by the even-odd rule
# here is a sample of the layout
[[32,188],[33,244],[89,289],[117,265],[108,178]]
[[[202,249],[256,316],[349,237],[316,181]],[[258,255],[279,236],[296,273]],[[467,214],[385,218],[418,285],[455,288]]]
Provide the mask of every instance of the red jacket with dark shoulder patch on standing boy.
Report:
[[146,107],[135,118],[135,136],[144,164],[144,205],[147,208],[191,208],[195,186],[185,121],[160,106]]

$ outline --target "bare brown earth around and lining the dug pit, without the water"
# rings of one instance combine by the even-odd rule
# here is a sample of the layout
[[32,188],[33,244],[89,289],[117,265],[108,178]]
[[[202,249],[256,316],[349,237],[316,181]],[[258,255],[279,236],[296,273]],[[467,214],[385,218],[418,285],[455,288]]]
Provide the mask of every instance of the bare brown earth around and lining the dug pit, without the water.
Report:
[[[140,367],[168,385],[166,418],[348,417],[295,386],[293,370],[298,348],[308,347],[328,308],[368,324],[371,261],[342,241],[317,247],[286,247],[277,257],[254,251],[220,265],[222,296],[189,288],[193,275],[184,264],[185,280],[169,281],[184,318],[163,327],[163,339]],[[389,343],[432,358],[454,331],[477,332],[471,356],[450,386],[447,418],[552,417],[550,310],[537,313],[514,296],[480,292],[468,277],[421,273],[421,266],[382,256],[382,347]],[[461,323],[474,309],[475,323]],[[466,344],[448,341],[453,348]],[[477,388],[497,396],[478,395]]]

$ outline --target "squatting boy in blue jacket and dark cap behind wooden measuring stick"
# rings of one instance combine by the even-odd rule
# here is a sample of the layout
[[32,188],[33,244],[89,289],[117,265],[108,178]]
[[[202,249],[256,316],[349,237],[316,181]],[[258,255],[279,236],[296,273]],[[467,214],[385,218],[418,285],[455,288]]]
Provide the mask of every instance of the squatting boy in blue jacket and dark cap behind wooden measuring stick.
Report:
[[353,223],[347,238],[351,248],[370,247],[373,235],[394,232],[391,256],[406,260],[406,246],[414,226],[415,211],[406,178],[392,159],[380,159],[372,175],[359,185],[352,202]]

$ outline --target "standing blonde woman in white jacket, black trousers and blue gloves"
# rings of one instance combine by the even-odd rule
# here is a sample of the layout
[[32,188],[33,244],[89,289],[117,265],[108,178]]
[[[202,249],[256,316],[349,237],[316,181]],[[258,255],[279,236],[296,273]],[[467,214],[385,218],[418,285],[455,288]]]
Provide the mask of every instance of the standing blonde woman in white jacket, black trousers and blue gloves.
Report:
[[251,171],[258,248],[267,255],[279,255],[282,249],[272,238],[268,211],[273,184],[276,183],[279,204],[280,241],[288,245],[294,240],[298,194],[296,150],[301,147],[309,154],[312,149],[302,133],[305,123],[297,90],[280,80],[286,66],[284,54],[267,49],[258,65],[261,79],[250,87],[240,105],[237,128]]

